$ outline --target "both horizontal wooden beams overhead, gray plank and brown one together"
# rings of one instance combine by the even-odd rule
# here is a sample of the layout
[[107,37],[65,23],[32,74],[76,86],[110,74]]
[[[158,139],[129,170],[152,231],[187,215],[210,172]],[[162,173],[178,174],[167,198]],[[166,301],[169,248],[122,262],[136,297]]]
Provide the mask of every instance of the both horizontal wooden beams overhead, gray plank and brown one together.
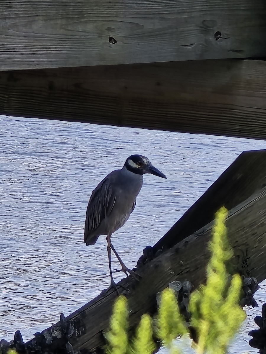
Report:
[[265,0],[4,2],[0,114],[265,139],[265,18]]

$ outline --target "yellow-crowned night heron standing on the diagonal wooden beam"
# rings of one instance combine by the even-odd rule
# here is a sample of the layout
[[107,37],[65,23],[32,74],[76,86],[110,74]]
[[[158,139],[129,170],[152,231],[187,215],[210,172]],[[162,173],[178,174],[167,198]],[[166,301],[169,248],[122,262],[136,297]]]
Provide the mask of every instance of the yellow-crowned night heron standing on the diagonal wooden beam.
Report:
[[131,155],[121,170],[109,173],[94,189],[90,196],[86,212],[84,242],[94,245],[100,235],[107,235],[107,253],[111,277],[111,287],[116,288],[111,269],[111,249],[115,253],[121,270],[125,274],[134,274],[122,262],[111,243],[111,235],[124,225],[134,210],[137,195],[143,183],[144,173],[167,178],[149,159],[141,155]]

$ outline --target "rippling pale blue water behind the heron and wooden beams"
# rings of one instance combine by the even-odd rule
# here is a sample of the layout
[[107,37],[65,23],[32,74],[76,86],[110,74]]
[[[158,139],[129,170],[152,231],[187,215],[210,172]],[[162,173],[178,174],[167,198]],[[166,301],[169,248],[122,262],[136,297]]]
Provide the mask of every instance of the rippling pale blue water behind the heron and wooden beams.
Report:
[[[168,178],[144,176],[134,212],[112,236],[131,268],[243,150],[265,148],[248,139],[0,116],[0,339],[17,329],[31,339],[109,286],[105,237],[83,243],[85,211],[95,186],[129,155],[146,155]],[[265,286],[255,298],[260,307],[247,309],[231,352],[257,351],[247,333]]]

